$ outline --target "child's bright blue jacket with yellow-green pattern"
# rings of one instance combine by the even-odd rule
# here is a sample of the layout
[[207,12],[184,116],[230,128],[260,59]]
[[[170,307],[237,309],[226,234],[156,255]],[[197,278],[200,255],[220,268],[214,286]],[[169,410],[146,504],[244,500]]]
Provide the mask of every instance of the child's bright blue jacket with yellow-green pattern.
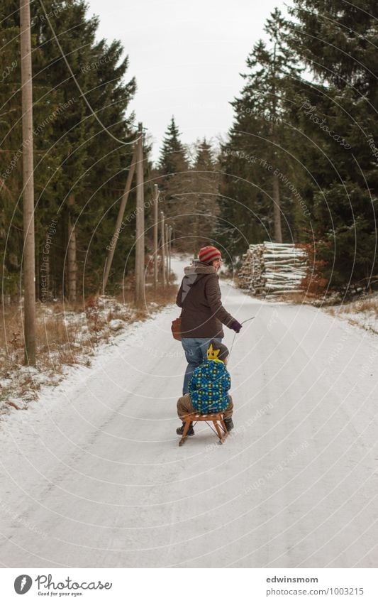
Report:
[[221,360],[205,360],[194,369],[189,381],[189,394],[194,411],[221,413],[225,411],[231,387],[230,374]]

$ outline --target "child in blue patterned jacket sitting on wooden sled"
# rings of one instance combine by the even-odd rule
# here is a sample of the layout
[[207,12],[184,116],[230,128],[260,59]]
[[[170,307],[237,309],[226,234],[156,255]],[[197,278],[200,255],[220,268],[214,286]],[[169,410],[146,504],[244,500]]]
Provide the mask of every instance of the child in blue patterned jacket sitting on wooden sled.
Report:
[[[177,401],[177,414],[183,420],[190,413],[224,413],[226,429],[233,429],[233,399],[228,394],[231,386],[230,374],[226,369],[228,349],[226,345],[211,339],[207,349],[207,360],[194,369],[189,381],[189,393]],[[177,428],[177,435],[182,435],[182,427]],[[188,435],[194,435],[193,425]]]

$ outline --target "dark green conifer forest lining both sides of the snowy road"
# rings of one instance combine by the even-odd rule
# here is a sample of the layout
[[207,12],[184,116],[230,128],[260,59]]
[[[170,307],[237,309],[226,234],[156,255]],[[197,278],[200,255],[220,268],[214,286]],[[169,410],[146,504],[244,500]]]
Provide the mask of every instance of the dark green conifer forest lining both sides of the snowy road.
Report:
[[[81,97],[43,6],[89,104],[114,138]],[[43,6],[30,4],[36,288],[40,299],[74,298],[101,283],[131,160],[131,146],[118,141],[135,138],[127,110],[136,84],[125,79],[121,44],[96,40],[98,21],[83,0],[43,0]],[[152,175],[177,249],[196,253],[214,242],[231,262],[265,239],[304,242],[326,285],[378,281],[377,17],[375,0],[293,0],[289,18],[276,9],[267,19],[267,41],[248,56],[220,152],[206,138],[184,146],[172,118]],[[1,2],[0,36],[0,260],[4,293],[17,295],[27,143],[17,0]],[[125,218],[110,288],[133,270],[133,192]]]

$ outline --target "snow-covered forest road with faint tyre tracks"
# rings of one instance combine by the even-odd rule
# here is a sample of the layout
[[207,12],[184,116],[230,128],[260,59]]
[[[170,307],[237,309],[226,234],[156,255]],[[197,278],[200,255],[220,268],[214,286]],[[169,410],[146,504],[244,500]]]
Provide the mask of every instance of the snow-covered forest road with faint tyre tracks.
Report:
[[1,565],[377,567],[377,339],[221,287],[226,444],[178,446],[171,306],[1,424]]

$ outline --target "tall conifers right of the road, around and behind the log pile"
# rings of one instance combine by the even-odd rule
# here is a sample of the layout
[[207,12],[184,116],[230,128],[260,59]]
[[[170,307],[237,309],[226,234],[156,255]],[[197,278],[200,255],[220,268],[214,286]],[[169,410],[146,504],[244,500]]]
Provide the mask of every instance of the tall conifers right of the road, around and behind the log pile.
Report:
[[377,286],[378,6],[294,0],[289,14],[267,20],[232,103],[218,240],[234,259],[306,242],[325,286]]

